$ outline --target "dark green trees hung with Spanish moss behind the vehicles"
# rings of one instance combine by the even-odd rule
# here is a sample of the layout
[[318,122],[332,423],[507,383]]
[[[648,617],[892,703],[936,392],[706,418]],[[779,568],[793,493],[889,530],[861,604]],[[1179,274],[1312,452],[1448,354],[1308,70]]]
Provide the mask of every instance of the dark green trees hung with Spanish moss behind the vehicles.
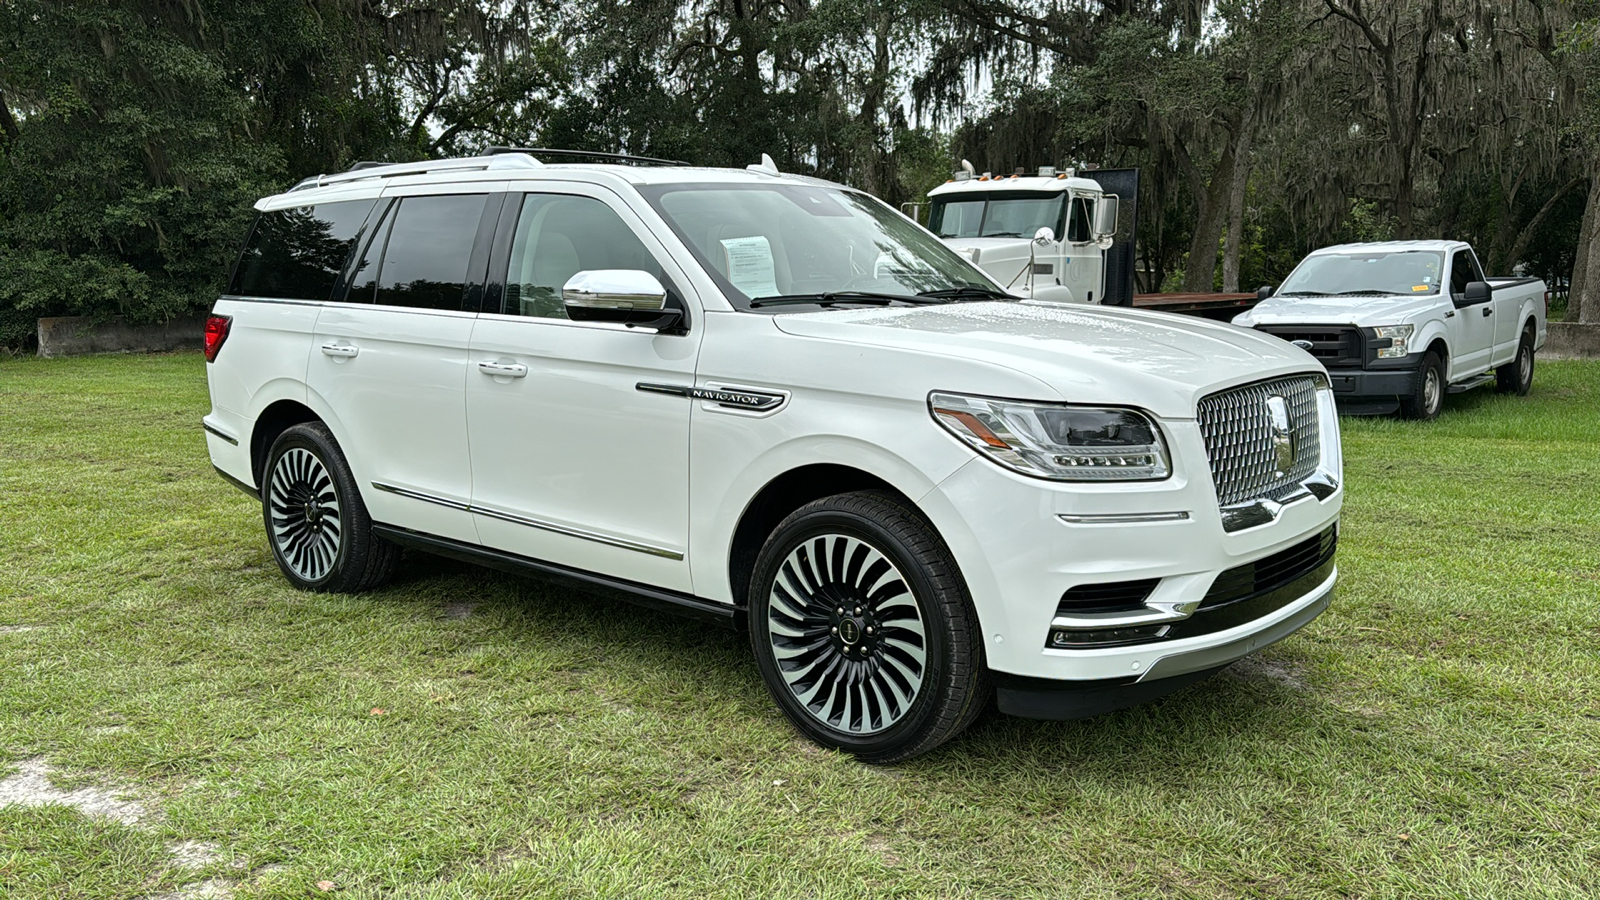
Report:
[[[922,199],[1139,167],[1139,287],[1459,237],[1600,319],[1597,0],[0,0],[0,346],[206,307],[256,197],[626,151]],[[1592,285],[1592,287],[1590,287]]]

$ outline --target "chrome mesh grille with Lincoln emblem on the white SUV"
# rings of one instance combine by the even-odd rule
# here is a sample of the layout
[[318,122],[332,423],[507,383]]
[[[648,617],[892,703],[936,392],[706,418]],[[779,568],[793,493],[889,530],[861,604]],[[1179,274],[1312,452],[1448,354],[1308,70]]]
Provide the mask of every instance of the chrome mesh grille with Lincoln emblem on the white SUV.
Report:
[[[1278,471],[1267,397],[1283,397],[1290,413],[1294,463]],[[1219,391],[1200,400],[1200,434],[1211,460],[1211,480],[1222,506],[1277,500],[1317,471],[1322,424],[1317,418],[1317,381],[1310,375],[1274,378]]]

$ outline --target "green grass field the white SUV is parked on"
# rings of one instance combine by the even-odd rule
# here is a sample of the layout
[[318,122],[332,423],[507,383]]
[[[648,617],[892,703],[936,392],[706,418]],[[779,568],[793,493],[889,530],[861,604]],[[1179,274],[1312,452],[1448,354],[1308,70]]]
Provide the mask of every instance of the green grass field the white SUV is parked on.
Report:
[[891,769],[728,631],[410,554],[290,589],[206,407],[198,354],[0,360],[0,778],[146,807],[0,806],[3,897],[1600,895],[1600,364],[1346,420],[1286,642]]

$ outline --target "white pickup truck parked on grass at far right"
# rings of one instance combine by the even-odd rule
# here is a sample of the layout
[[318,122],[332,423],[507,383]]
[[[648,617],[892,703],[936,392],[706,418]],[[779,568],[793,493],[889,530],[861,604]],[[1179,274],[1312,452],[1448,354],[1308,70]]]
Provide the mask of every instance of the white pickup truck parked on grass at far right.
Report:
[[1459,240],[1326,247],[1258,296],[1234,323],[1309,351],[1352,413],[1430,420],[1490,381],[1523,396],[1546,340],[1544,282],[1485,279]]

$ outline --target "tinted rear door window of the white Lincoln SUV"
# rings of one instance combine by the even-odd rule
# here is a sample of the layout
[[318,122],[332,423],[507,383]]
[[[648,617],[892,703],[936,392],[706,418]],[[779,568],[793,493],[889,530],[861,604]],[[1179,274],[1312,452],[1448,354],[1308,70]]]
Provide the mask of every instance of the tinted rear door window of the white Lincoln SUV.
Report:
[[[390,213],[394,224],[382,248],[376,303],[461,309],[485,200],[483,194],[402,199]],[[354,285],[366,277],[368,272],[358,272]],[[355,287],[350,293],[352,301],[358,299]]]

